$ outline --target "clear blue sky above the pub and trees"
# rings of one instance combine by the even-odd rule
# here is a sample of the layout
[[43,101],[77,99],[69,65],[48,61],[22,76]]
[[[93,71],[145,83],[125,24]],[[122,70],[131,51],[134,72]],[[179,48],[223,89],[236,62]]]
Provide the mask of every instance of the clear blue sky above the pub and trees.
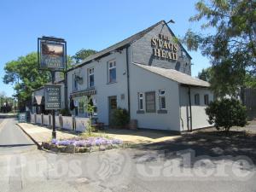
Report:
[[[105,49],[160,20],[169,24],[177,37],[189,28],[199,32],[195,15],[197,0],[1,0],[0,1],[0,92],[14,94],[11,84],[3,84],[6,62],[37,51],[38,38],[55,36],[67,41],[67,54],[79,49]],[[208,67],[200,50],[192,56],[192,76]]]

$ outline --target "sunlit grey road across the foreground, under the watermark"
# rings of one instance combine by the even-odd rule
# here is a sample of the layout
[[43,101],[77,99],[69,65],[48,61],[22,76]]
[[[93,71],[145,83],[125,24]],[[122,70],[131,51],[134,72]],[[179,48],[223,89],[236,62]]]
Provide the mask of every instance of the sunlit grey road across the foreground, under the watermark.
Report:
[[188,141],[55,154],[38,150],[15,125],[15,119],[0,119],[0,123],[1,192],[256,191],[252,160],[235,154],[195,157],[195,150],[200,149],[194,150],[193,143],[173,148]]

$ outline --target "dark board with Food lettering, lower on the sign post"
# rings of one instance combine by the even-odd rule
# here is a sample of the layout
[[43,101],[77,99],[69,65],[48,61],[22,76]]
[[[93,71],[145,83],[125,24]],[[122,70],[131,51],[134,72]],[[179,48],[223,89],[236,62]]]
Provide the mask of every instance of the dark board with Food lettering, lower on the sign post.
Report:
[[44,86],[45,109],[61,109],[61,85],[46,84]]

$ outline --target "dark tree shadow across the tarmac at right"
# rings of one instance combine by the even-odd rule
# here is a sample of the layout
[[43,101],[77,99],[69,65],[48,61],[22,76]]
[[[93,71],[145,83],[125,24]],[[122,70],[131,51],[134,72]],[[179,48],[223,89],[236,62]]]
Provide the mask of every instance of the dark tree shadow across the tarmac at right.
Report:
[[[241,131],[230,131],[229,136],[225,136],[222,131],[195,132],[172,141],[138,146],[137,149],[142,152],[146,150],[144,154],[147,154],[147,151],[164,153],[165,160],[172,159],[177,156],[177,152],[186,150],[193,151],[195,157],[206,156],[216,160],[230,160],[243,156],[256,165],[256,134],[247,135]],[[136,154],[134,159],[139,159],[144,154]]]

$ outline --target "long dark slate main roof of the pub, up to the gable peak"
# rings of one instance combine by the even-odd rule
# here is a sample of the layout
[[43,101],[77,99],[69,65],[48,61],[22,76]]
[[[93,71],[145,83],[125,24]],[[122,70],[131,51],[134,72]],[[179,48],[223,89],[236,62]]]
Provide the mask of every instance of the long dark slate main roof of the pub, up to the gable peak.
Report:
[[[167,25],[165,20],[160,20],[159,22],[155,23],[153,26],[149,26],[147,29],[143,30],[142,32],[137,32],[136,34],[132,35],[130,38],[125,38],[125,40],[120,41],[117,44],[113,44],[112,46],[108,47],[107,49],[102,49],[101,51],[97,52],[94,55],[88,56],[84,61],[81,61],[79,64],[76,64],[73,68],[67,70],[67,71],[72,71],[75,68],[82,67],[86,63],[96,60],[104,55],[108,55],[110,52],[116,50],[116,49],[121,49],[124,48],[128,44],[132,44],[133,42],[137,41],[139,38],[143,38],[145,34],[150,32],[151,30],[154,29],[155,26],[160,25],[162,23],[163,25]],[[172,32],[172,30],[170,30]],[[174,36],[173,32],[172,35]],[[182,44],[180,44],[182,46]],[[184,49],[186,51],[186,49]],[[188,54],[189,55],[189,54]],[[190,57],[190,55],[189,55]]]

